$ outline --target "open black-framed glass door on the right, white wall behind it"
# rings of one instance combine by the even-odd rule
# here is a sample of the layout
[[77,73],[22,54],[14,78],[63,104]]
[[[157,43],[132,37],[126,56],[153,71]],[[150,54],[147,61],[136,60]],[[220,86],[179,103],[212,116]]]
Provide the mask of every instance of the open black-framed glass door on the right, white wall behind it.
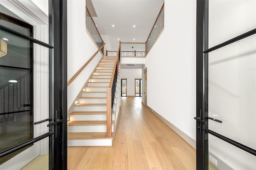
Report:
[[256,1],[197,1],[198,170],[256,162]]

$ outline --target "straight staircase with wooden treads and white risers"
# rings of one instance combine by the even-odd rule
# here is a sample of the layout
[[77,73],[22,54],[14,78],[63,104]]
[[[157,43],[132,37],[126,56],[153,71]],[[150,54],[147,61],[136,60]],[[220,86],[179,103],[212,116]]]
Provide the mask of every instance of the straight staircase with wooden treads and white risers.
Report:
[[[68,146],[112,146],[119,111],[116,87],[112,112],[112,136],[106,138],[106,90],[109,86],[116,57],[102,57],[83,89],[82,97],[68,115]],[[120,64],[119,64],[120,65]],[[120,66],[119,68],[120,69]],[[116,86],[118,86],[119,76]],[[116,107],[118,106],[118,111]]]

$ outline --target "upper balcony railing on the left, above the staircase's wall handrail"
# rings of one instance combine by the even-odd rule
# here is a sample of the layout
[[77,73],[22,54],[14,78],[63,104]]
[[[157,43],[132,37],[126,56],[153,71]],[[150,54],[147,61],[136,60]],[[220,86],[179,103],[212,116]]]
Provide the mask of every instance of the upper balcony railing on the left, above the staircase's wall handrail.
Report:
[[[92,15],[90,14],[87,6],[86,6],[86,29],[90,33],[92,39],[94,39],[98,48],[100,48],[103,45],[104,41],[100,36],[100,33],[96,27],[94,20],[92,19]],[[104,54],[104,47],[101,49],[101,52]]]

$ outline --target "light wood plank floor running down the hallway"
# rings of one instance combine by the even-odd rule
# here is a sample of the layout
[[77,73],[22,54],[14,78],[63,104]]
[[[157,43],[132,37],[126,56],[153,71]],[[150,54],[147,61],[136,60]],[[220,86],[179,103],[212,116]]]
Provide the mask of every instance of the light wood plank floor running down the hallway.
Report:
[[69,170],[195,170],[196,151],[141,104],[122,97],[113,147],[68,147]]

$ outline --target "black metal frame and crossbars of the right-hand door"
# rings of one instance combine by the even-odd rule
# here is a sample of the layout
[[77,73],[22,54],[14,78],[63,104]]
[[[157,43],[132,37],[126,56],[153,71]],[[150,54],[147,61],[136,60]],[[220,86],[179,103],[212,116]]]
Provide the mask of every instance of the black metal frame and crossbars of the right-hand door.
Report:
[[[208,134],[256,156],[256,150],[208,129],[208,53],[256,34],[256,28],[208,49],[209,0],[196,7],[196,169],[208,170]],[[209,117],[210,119],[210,117]]]

